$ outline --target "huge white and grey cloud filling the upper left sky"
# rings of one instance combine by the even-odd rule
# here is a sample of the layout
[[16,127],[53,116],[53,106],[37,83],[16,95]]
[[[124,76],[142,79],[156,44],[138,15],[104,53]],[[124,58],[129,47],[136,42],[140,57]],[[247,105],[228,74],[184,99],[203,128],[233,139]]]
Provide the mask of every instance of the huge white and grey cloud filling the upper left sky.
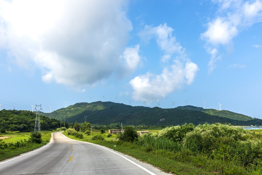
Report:
[[[114,72],[131,73],[139,45],[125,48],[132,30],[124,0],[0,0],[0,48],[42,80],[82,87]],[[122,55],[122,56],[121,56]]]

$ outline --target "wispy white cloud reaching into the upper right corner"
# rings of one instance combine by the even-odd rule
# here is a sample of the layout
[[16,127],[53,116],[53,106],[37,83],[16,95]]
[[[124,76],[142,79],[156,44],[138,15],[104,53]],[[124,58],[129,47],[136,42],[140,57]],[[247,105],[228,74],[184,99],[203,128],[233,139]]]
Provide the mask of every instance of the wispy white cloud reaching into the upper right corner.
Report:
[[[207,31],[200,35],[206,40],[205,48],[211,54],[209,71],[221,58],[218,54],[220,45],[228,46],[232,39],[242,30],[262,21],[262,0],[213,0],[218,3],[217,17],[207,24]],[[212,52],[215,51],[215,52]]]

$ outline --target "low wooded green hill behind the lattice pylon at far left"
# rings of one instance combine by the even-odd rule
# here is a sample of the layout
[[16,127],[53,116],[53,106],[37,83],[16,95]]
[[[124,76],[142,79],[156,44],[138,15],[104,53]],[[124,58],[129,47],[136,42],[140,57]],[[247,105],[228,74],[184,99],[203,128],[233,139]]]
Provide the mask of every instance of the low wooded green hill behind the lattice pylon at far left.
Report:
[[[34,130],[35,113],[27,110],[0,110],[0,132]],[[41,130],[52,130],[60,127],[60,121],[46,116],[40,117]]]

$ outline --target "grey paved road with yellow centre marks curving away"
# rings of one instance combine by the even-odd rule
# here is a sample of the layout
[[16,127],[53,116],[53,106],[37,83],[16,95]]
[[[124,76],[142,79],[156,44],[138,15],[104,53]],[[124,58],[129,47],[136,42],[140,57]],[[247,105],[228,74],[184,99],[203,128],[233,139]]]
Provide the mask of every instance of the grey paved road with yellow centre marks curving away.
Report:
[[[146,167],[146,168],[145,168]],[[0,162],[0,175],[166,175],[103,146],[55,132],[49,144]]]

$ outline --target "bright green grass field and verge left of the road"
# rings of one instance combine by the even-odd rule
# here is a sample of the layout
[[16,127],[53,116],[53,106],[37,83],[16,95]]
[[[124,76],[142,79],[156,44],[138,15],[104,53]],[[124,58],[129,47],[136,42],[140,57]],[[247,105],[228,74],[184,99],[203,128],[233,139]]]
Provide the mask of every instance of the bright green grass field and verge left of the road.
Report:
[[[51,138],[51,133],[52,133],[51,131],[41,131],[43,142],[40,143],[40,144],[31,143],[31,144],[28,144],[27,146],[16,148],[16,149],[0,150],[0,161],[11,158],[11,157],[18,156],[22,153],[26,153],[26,152],[32,151],[34,149],[37,149],[41,146],[44,146],[45,144],[47,144],[49,142],[49,140]],[[3,141],[8,140],[9,141],[8,143],[10,143],[10,142],[16,143],[17,141],[20,141],[23,138],[28,140],[29,137],[30,137],[30,133],[7,133],[7,134],[0,134],[0,136],[4,136],[4,137],[12,136],[12,138],[5,139]],[[6,143],[7,143],[7,141],[6,141]]]

